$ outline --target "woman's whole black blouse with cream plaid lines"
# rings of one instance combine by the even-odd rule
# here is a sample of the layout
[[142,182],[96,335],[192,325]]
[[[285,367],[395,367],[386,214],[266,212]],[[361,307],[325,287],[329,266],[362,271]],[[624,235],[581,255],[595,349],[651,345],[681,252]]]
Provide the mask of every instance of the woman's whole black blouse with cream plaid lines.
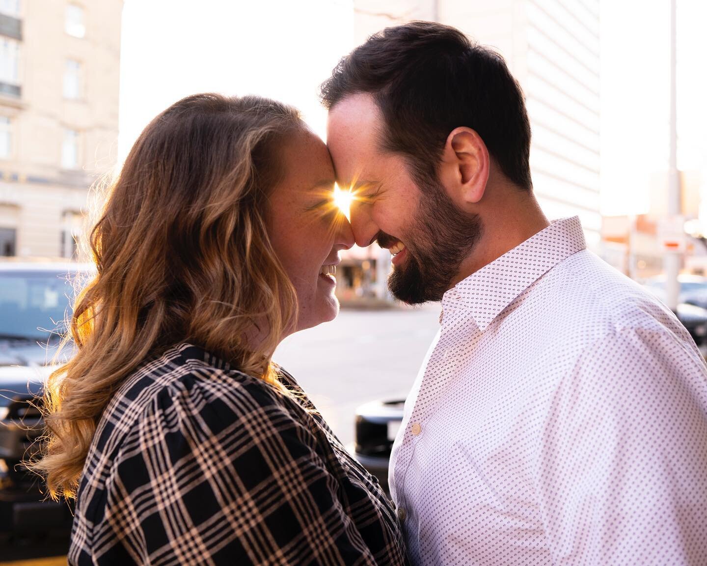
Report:
[[281,380],[293,397],[187,344],[129,376],[95,431],[69,564],[407,564],[377,480]]

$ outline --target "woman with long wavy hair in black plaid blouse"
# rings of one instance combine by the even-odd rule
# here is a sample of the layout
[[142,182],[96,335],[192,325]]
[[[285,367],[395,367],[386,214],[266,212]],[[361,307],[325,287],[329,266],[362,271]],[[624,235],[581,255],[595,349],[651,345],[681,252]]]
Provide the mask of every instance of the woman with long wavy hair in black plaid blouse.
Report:
[[333,186],[271,100],[189,96],[136,141],[47,387],[37,469],[76,496],[70,564],[405,562],[392,504],[271,362],[337,316]]

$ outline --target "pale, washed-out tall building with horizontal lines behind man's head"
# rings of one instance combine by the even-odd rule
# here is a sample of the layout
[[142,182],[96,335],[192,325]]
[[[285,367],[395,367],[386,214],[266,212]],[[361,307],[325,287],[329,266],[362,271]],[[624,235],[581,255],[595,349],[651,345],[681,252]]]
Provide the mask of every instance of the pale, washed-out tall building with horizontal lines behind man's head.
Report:
[[580,216],[598,249],[600,0],[354,1],[356,43],[387,27],[433,20],[499,52],[525,93],[534,192],[549,219]]

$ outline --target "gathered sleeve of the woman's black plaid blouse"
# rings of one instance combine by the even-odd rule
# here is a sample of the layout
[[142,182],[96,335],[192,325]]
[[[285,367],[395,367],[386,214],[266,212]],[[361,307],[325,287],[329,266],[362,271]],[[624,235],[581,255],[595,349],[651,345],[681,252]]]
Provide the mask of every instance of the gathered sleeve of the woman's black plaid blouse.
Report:
[[[98,564],[373,565],[305,418],[259,383],[158,395],[107,483]],[[100,554],[100,545],[97,547]]]

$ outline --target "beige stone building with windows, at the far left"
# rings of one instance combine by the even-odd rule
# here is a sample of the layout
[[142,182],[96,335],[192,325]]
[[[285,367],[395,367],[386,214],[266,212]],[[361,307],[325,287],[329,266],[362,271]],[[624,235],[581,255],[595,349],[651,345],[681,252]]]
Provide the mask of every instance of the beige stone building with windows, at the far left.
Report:
[[0,0],[0,255],[71,257],[115,164],[122,0]]

